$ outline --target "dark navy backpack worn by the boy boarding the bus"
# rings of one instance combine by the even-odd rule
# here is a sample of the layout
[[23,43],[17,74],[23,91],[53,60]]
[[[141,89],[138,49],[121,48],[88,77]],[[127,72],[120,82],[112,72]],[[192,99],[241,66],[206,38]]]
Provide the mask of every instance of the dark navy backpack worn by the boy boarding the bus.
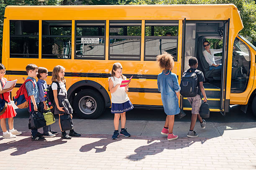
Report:
[[180,82],[180,94],[183,97],[195,97],[198,93],[197,74],[191,69],[184,72]]

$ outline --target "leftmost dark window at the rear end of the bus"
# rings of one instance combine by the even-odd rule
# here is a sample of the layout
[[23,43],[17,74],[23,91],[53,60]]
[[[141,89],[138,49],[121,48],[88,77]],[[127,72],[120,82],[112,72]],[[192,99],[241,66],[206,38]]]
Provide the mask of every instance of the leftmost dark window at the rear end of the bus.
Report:
[[10,57],[38,58],[38,20],[10,20]]

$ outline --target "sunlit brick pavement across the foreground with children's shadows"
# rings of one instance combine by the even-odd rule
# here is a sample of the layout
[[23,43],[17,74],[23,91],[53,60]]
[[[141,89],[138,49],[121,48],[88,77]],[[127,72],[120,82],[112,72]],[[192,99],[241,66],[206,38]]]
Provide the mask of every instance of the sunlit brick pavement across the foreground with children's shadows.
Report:
[[255,170],[249,138],[119,137],[84,135],[31,141],[26,132],[0,138],[0,170]]

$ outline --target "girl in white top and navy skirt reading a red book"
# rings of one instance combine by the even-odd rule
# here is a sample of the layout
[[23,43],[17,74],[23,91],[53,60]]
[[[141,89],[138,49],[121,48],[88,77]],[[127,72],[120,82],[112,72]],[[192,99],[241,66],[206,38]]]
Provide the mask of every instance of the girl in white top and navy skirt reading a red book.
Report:
[[114,63],[111,77],[108,78],[109,90],[111,93],[111,113],[115,114],[114,127],[115,131],[112,139],[117,139],[119,136],[118,127],[119,119],[121,117],[121,130],[120,135],[130,137],[131,135],[125,129],[125,112],[132,110],[133,105],[127,95],[128,85],[120,87],[122,80],[126,80],[126,77],[122,74],[123,67],[119,62]]

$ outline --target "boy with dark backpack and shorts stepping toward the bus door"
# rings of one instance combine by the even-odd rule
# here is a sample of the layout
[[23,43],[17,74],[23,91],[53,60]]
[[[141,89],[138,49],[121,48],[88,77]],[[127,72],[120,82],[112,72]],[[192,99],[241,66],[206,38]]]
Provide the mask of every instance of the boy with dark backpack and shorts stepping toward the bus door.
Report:
[[191,124],[189,132],[187,133],[187,137],[192,138],[198,136],[198,134],[194,131],[197,118],[200,121],[201,128],[205,128],[205,120],[202,120],[202,117],[199,114],[201,106],[201,92],[204,96],[204,102],[207,102],[207,97],[203,85],[205,77],[200,70],[197,70],[198,62],[196,57],[189,58],[189,66],[190,68],[184,72],[182,76],[180,93],[183,95],[183,97],[187,97],[187,100],[192,106]]

